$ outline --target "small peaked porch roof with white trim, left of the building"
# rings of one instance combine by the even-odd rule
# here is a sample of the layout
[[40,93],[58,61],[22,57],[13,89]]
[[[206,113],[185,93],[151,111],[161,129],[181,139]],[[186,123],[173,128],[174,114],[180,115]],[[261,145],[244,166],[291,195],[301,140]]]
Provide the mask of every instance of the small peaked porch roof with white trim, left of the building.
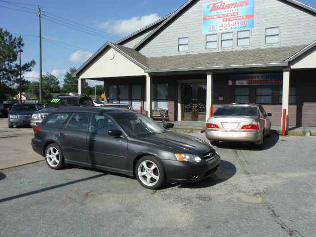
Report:
[[87,66],[90,64],[91,61],[93,61],[100,53],[102,53],[104,50],[106,50],[107,47],[112,47],[115,49],[118,53],[125,56],[127,59],[141,67],[142,69],[148,69],[147,68],[147,58],[141,54],[140,52],[133,50],[131,48],[118,45],[115,43],[107,42],[104,44],[101,48],[99,48],[98,51],[96,51],[84,64],[82,64],[79,69],[72,75],[72,77],[77,78],[78,74]]

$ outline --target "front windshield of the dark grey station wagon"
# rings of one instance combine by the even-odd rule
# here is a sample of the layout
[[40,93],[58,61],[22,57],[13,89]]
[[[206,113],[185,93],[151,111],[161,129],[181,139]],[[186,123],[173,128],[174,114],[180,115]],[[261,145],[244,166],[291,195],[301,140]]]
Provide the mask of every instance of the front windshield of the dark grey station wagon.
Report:
[[128,136],[159,134],[167,130],[153,119],[141,114],[120,114],[113,116]]

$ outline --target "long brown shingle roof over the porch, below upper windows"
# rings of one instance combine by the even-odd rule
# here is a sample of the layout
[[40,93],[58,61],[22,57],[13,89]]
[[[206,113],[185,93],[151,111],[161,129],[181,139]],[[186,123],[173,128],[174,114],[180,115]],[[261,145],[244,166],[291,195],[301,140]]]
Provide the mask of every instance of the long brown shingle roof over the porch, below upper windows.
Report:
[[284,63],[307,45],[148,58],[150,70]]

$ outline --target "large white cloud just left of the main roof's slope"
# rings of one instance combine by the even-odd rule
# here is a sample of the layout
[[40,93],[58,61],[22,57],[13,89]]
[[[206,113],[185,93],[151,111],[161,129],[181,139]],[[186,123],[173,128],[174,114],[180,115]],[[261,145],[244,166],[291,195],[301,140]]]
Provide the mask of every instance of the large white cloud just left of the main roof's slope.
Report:
[[160,17],[157,13],[145,16],[135,16],[130,19],[109,19],[105,22],[99,23],[98,27],[109,33],[125,36],[148,26],[159,19]]

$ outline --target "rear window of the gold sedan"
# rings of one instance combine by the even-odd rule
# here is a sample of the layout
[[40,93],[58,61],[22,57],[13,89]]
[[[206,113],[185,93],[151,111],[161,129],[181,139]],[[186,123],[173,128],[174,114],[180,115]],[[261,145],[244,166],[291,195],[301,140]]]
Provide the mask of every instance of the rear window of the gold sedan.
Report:
[[221,107],[218,108],[213,116],[258,116],[256,107]]

